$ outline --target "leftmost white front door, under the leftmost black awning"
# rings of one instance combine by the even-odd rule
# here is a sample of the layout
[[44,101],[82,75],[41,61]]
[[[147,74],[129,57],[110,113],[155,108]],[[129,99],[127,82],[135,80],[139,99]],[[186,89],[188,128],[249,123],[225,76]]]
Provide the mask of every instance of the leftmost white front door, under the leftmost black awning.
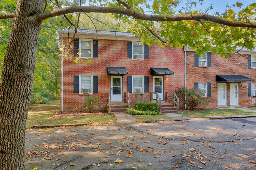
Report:
[[111,101],[122,101],[122,76],[111,76]]

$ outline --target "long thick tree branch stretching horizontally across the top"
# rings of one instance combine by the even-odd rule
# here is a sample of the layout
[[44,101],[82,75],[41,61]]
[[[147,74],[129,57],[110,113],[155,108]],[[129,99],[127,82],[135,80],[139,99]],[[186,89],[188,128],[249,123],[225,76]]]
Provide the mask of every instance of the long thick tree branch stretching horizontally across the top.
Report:
[[[148,21],[184,21],[184,20],[207,20],[215,22],[218,24],[223,24],[231,27],[252,27],[256,28],[256,22],[238,22],[232,20],[226,20],[217,16],[212,16],[208,14],[183,14],[183,15],[168,15],[166,17],[161,15],[150,15],[142,14],[130,9],[120,8],[120,7],[96,7],[96,6],[71,6],[60,9],[55,9],[50,12],[36,14],[34,17],[37,20],[45,20],[54,16],[59,16],[62,14],[68,13],[114,13],[114,14],[123,14],[127,16],[132,16],[140,20]],[[1,14],[0,19],[13,18],[14,14]]]

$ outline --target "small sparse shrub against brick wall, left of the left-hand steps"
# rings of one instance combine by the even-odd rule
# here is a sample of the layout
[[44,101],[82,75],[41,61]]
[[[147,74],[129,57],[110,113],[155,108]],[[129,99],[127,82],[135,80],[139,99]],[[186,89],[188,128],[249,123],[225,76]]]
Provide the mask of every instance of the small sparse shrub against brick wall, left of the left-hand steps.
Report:
[[100,95],[92,96],[91,94],[85,99],[83,106],[85,108],[85,112],[91,113],[93,110],[98,111],[98,104],[100,103]]

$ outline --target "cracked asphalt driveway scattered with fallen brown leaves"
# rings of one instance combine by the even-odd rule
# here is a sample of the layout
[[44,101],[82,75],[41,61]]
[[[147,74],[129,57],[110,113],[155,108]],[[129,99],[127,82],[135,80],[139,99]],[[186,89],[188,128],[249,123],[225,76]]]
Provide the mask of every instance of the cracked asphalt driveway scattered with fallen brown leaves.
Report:
[[256,169],[256,118],[37,129],[26,137],[27,169]]

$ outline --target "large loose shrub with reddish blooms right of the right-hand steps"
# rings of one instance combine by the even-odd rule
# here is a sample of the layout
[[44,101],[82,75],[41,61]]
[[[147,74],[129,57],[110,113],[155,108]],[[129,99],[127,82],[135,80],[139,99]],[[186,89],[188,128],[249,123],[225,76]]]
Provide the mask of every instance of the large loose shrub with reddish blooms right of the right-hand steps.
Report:
[[182,87],[176,90],[176,92],[184,96],[186,95],[184,103],[187,105],[189,110],[194,110],[197,106],[206,107],[206,105],[208,105],[208,98],[201,96],[202,90],[196,87],[193,87],[192,89]]

